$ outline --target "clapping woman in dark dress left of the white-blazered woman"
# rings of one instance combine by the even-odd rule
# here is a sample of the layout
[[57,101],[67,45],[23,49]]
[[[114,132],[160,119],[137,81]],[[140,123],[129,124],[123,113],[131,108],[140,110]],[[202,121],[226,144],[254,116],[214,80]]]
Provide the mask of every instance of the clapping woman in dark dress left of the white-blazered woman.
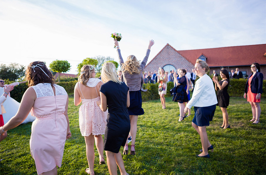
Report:
[[175,102],[178,102],[178,106],[179,106],[179,111],[180,111],[180,117],[178,121],[182,121],[184,120],[184,118],[186,118],[186,115],[184,113],[184,109],[185,109],[185,102],[188,102],[188,91],[187,89],[185,89],[185,86],[187,85],[187,78],[185,76],[186,74],[186,70],[185,69],[181,69],[179,71],[180,74],[180,78],[177,79],[177,74],[174,73],[174,82],[177,85],[176,88],[176,97],[175,97]]

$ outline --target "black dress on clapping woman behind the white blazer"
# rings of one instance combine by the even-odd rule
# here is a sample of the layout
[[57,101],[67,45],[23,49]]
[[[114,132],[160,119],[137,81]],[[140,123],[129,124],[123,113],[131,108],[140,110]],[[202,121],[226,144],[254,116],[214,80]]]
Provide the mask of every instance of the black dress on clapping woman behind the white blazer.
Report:
[[219,84],[222,85],[222,83],[224,81],[227,81],[228,84],[222,90],[220,90],[220,89],[218,90],[218,92],[217,92],[217,101],[218,101],[217,106],[222,107],[222,108],[227,108],[229,106],[229,99],[230,99],[230,96],[227,92],[227,89],[229,86],[229,80],[228,79],[223,80],[223,81],[221,80],[221,81],[219,81]]

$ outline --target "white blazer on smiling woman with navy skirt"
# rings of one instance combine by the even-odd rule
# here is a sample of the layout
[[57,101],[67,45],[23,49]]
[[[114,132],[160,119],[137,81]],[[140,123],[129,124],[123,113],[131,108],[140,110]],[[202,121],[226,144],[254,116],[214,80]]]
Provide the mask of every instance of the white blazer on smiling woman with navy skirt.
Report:
[[207,107],[217,103],[213,81],[205,74],[196,81],[192,97],[186,107],[188,107],[188,109],[192,106]]

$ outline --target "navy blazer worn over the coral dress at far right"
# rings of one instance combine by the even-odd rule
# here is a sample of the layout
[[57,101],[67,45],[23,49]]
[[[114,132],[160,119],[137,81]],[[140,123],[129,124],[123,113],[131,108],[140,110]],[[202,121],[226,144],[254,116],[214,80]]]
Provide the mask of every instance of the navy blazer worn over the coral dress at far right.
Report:
[[[252,76],[252,74],[250,74],[250,76],[248,76],[248,78],[247,78],[245,93],[247,93],[248,79]],[[255,73],[255,75],[252,77],[251,83],[250,83],[251,92],[255,93],[255,94],[262,93],[262,82],[263,82],[263,74],[260,72]]]

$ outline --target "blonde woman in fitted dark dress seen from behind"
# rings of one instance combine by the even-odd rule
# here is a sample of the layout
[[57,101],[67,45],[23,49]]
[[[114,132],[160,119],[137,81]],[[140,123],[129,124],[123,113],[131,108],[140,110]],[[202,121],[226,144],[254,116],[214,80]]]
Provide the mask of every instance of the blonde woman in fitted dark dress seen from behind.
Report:
[[121,174],[127,174],[124,162],[119,152],[126,144],[130,131],[128,109],[130,105],[129,88],[116,76],[113,63],[104,63],[101,77],[103,85],[100,87],[101,102],[97,104],[102,111],[108,107],[107,125],[104,133],[104,150],[110,174],[117,174],[117,166]]

